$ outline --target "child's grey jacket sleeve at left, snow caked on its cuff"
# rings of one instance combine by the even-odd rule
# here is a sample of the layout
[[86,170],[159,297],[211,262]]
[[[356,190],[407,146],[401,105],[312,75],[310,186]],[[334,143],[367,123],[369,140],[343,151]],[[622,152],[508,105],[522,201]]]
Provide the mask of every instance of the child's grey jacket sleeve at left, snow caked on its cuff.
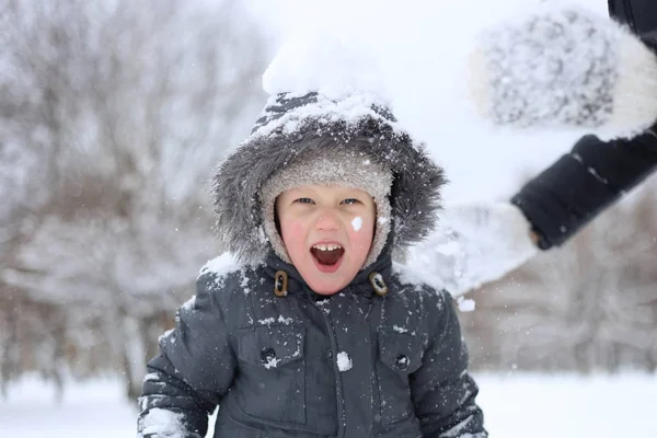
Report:
[[138,438],[205,437],[208,415],[231,385],[235,357],[212,284],[211,275],[199,277],[175,328],[160,338],[139,397]]

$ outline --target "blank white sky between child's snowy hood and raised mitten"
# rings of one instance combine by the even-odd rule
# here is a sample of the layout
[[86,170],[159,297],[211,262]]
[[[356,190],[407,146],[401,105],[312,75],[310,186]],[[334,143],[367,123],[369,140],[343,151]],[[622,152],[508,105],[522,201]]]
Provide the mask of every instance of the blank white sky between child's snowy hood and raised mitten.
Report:
[[283,10],[270,10],[266,2],[253,4],[261,7],[254,5],[256,14],[267,18],[281,41],[303,34],[308,26],[326,33],[341,28],[345,45],[353,42],[369,53],[394,114],[427,141],[446,168],[449,201],[506,198],[523,176],[541,170],[585,134],[505,132],[477,119],[466,101],[465,66],[476,33],[545,3],[577,4],[607,16],[604,0],[288,1]]

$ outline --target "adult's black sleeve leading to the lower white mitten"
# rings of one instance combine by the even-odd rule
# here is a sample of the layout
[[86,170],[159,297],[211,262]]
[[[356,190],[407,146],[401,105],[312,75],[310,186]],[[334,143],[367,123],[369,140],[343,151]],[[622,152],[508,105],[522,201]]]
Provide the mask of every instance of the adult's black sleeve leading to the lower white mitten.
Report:
[[539,247],[564,243],[656,169],[654,129],[609,142],[583,137],[511,198],[539,234]]

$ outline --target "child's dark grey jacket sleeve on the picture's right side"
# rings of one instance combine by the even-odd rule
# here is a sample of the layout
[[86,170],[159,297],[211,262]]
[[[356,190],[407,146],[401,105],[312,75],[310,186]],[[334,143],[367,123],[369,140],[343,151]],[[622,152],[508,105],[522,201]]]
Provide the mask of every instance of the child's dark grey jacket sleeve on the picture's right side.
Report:
[[485,438],[484,417],[475,403],[479,388],[468,373],[468,349],[449,293],[441,292],[434,337],[422,367],[411,374],[415,414],[426,438]]

